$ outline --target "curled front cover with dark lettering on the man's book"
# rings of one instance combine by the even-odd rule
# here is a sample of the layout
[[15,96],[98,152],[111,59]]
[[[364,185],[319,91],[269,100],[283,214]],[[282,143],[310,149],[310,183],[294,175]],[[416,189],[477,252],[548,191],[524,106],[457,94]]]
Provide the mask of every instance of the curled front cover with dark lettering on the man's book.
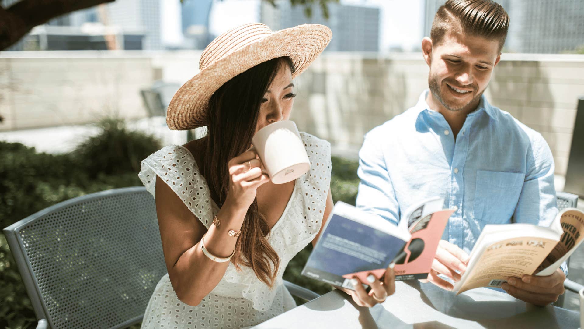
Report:
[[[562,237],[559,239],[555,248],[552,249],[543,263],[536,270],[537,275],[547,276],[554,274],[555,270],[559,268],[568,259],[572,252],[584,240],[584,213],[576,208],[567,208],[558,214],[558,222],[561,224]],[[558,219],[557,218],[557,219]],[[554,224],[552,224],[554,225]]]

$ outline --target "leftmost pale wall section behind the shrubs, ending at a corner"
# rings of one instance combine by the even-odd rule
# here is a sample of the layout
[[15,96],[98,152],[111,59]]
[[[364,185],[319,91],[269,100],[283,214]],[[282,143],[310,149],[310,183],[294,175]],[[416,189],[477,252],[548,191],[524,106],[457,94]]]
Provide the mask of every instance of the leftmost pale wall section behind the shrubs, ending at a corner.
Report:
[[0,53],[0,131],[142,118],[139,91],[153,74],[151,57],[140,53]]

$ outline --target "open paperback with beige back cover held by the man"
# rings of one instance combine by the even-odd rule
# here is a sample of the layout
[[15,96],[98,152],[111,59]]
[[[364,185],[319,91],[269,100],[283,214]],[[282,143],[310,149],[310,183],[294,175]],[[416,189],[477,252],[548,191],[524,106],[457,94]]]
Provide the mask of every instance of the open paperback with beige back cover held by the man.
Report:
[[500,287],[510,276],[552,275],[582,243],[582,234],[584,213],[576,208],[562,210],[550,227],[485,225],[454,291]]

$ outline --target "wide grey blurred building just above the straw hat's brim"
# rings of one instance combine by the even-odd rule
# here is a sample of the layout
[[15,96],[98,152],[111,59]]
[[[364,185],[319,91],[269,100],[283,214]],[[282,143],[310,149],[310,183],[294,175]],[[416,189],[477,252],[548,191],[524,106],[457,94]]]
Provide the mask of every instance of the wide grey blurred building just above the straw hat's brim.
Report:
[[356,6],[330,3],[329,18],[320,6],[312,6],[312,16],[305,15],[304,7],[293,6],[289,0],[276,1],[272,6],[266,1],[260,5],[260,22],[272,30],[291,28],[311,23],[331,28],[333,38],[325,51],[378,52],[380,35],[380,9],[375,6]]

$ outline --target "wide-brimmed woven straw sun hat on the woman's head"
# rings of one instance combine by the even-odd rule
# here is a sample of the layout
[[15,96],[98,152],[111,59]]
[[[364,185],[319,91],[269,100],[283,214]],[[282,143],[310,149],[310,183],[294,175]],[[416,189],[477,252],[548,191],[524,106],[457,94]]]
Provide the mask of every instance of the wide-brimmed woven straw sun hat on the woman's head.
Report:
[[261,23],[231,29],[211,42],[199,62],[200,72],[172,97],[166,124],[173,130],[207,125],[208,101],[221,85],[264,61],[288,56],[302,73],[331,41],[331,29],[304,24],[272,32]]

